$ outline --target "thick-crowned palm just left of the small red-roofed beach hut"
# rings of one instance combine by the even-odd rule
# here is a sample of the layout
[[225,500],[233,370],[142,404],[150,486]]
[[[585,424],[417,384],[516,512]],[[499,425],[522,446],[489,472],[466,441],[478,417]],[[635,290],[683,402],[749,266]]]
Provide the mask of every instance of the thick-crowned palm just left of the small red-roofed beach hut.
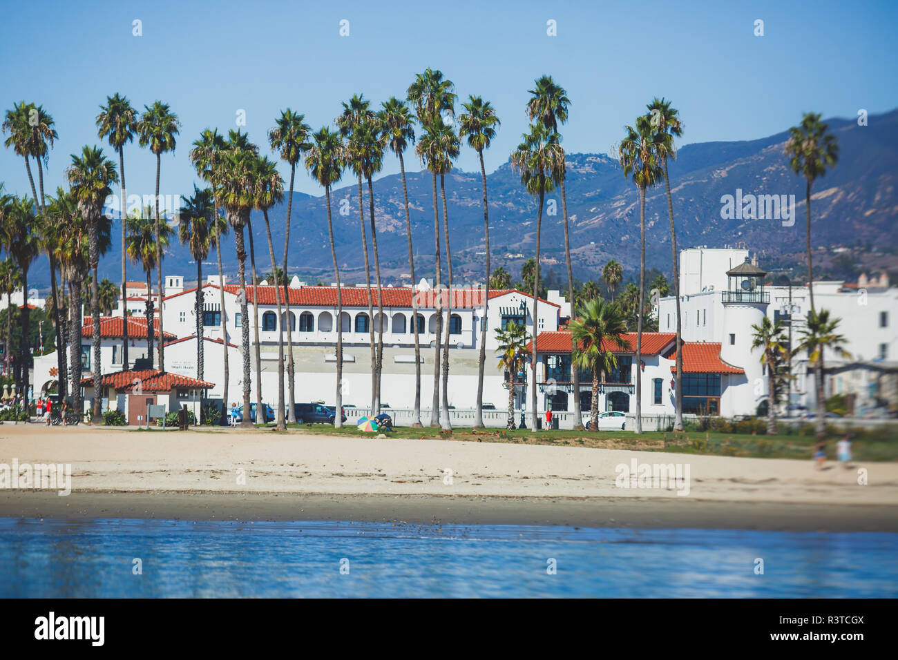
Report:
[[[78,205],[78,211],[87,223],[88,267],[94,276],[91,283],[91,310],[93,317],[93,418],[92,424],[101,424],[102,406],[100,382],[100,298],[97,282],[97,265],[100,262],[98,243],[99,224],[103,203],[112,193],[111,185],[119,182],[115,163],[110,161],[103,150],[95,146],[85,146],[81,155],[72,154],[72,163],[66,170],[66,178],[71,185],[71,194]],[[162,304],[160,299],[160,305]],[[160,313],[160,316],[162,314]]]

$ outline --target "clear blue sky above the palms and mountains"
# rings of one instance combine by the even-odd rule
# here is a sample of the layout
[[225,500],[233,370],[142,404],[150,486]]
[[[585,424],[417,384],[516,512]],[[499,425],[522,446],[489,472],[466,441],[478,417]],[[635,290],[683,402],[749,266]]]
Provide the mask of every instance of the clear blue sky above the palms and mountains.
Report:
[[[568,152],[608,152],[652,97],[681,112],[682,144],[768,136],[806,110],[855,117],[898,106],[894,2],[31,2],[7,3],[0,23],[2,109],[35,101],[56,120],[48,191],[69,154],[99,144],[98,107],[120,92],[139,109],[159,99],[183,124],[163,157],[161,192],[189,192],[190,143],[203,128],[226,133],[246,111],[251,139],[269,153],[279,111],[319,128],[340,101],[364,92],[379,105],[404,96],[416,72],[441,69],[462,99],[480,94],[502,127],[488,172],[526,128],[524,103],[538,75],[568,90]],[[132,22],[143,36],[132,36]],[[349,21],[348,37],[339,22]],[[546,34],[548,20],[558,36]],[[753,35],[764,21],[763,37]],[[109,147],[107,146],[107,151]],[[152,193],[154,157],[125,152],[128,191]],[[418,169],[414,156],[409,170]],[[478,167],[470,149],[459,166]],[[398,171],[394,158],[383,173]],[[282,167],[285,179],[286,167]],[[31,194],[22,159],[0,150],[7,191]],[[321,190],[305,172],[296,189]]]

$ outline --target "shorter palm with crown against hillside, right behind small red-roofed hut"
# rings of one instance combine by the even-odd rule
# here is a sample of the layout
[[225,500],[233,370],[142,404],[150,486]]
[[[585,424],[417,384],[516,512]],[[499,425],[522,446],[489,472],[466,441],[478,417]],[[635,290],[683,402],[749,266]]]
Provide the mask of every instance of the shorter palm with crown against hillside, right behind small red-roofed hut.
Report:
[[194,315],[197,321],[197,378],[203,380],[205,371],[205,347],[203,339],[203,260],[209,256],[209,250],[216,244],[214,224],[216,220],[215,202],[212,189],[198,189],[193,186],[193,195],[189,198],[181,196],[182,206],[178,210],[178,238],[181,245],[189,247],[190,256],[197,261],[197,292],[194,302]]

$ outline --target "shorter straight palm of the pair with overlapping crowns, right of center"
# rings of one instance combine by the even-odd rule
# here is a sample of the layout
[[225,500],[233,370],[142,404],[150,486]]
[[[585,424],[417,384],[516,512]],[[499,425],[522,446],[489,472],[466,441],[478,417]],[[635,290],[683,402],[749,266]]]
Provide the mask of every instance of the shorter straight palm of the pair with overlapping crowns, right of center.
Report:
[[[524,134],[524,141],[511,154],[512,168],[521,172],[524,189],[539,200],[536,215],[536,258],[533,277],[533,351],[531,354],[531,430],[536,432],[536,342],[539,325],[538,305],[540,295],[540,234],[542,228],[542,207],[546,193],[554,189],[555,174],[564,159],[564,151],[558,137],[542,123],[531,124],[530,132]],[[579,396],[579,395],[578,395]]]

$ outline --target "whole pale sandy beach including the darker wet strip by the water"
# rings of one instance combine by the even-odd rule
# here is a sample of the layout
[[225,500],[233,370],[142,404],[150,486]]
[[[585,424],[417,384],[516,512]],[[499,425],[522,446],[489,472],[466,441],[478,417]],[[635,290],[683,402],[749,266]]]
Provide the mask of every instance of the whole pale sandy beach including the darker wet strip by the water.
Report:
[[[810,460],[7,423],[0,463],[13,460],[71,464],[72,492],[0,490],[0,516],[898,531],[894,462],[817,471]],[[634,460],[688,467],[688,493],[621,488],[618,466]]]

